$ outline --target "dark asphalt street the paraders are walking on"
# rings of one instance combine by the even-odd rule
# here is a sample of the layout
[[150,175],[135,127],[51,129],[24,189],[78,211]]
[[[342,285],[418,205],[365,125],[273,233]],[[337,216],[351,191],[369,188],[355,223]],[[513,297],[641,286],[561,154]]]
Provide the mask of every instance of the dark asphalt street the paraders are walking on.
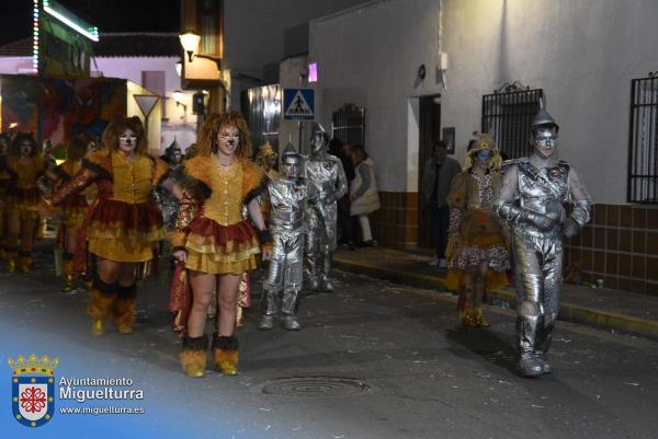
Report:
[[49,354],[58,379],[129,378],[145,395],[131,404],[146,413],[57,413],[27,435],[11,419],[5,368],[3,437],[656,437],[656,342],[559,322],[554,374],[522,379],[510,310],[488,309],[490,330],[464,330],[450,294],[337,273],[337,292],[305,297],[303,331],[259,332],[252,311],[239,330],[241,374],[192,380],[179,371],[163,284],[143,285],[134,335],[93,337],[87,293],[60,292],[47,243],[38,250],[33,274],[0,273],[3,361]]

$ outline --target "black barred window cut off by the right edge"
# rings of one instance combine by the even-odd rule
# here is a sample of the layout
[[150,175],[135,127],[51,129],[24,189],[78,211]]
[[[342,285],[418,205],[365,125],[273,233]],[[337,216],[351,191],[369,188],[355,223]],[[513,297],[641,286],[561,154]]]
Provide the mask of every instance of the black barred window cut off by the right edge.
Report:
[[658,72],[631,81],[626,198],[658,204]]

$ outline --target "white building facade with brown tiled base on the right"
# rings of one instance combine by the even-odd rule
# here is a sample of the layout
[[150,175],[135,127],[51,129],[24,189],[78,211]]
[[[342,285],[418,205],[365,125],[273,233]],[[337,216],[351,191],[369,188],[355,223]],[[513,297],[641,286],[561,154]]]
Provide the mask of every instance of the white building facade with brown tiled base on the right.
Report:
[[[440,106],[441,127],[454,127],[462,161],[481,129],[483,96],[515,82],[543,92],[560,125],[559,154],[595,203],[592,223],[567,243],[567,265],[611,288],[658,292],[658,205],[627,200],[631,81],[658,70],[656,16],[653,0],[377,0],[311,21],[319,120],[330,126],[348,102],[366,109],[379,239],[427,244],[418,230],[423,100]],[[645,122],[656,130],[653,115]]]

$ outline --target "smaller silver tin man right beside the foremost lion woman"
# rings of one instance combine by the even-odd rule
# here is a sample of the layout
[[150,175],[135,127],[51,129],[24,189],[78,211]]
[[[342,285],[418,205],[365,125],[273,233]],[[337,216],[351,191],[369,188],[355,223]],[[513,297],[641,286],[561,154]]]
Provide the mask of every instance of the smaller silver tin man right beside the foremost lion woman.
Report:
[[[260,330],[271,330],[281,311],[286,330],[299,330],[297,309],[304,276],[304,220],[309,188],[299,178],[302,155],[292,145],[282,154],[283,175],[268,184],[270,233],[273,247],[268,276],[263,281],[263,316]],[[281,297],[283,292],[283,298]]]

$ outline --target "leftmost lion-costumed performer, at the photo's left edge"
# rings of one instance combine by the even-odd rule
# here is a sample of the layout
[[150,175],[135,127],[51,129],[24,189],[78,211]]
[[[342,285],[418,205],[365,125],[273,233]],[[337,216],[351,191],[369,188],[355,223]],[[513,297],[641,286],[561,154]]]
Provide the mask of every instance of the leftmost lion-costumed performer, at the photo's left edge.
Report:
[[7,268],[13,272],[19,263],[21,272],[27,273],[32,266],[32,245],[36,239],[39,218],[41,192],[37,180],[45,174],[47,163],[38,155],[34,137],[20,132],[13,138],[7,160],[0,166],[0,171],[10,175],[5,198]]

